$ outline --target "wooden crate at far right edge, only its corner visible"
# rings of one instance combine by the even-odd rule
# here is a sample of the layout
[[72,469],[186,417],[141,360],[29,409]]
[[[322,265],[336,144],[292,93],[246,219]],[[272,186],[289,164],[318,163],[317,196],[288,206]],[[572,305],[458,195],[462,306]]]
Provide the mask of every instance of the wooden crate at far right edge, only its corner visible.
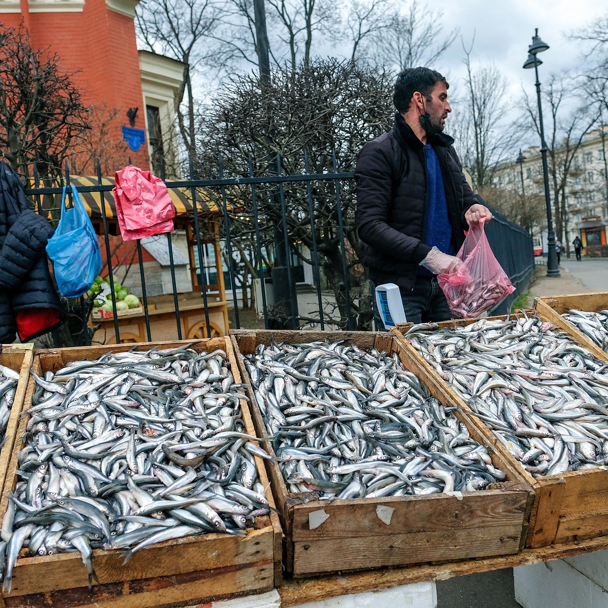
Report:
[[582,344],[596,359],[608,362],[608,353],[603,351],[593,340],[576,328],[575,325],[562,317],[568,308],[597,313],[608,308],[608,292],[593,292],[590,294],[553,295],[537,298],[536,311],[543,319],[547,319],[562,330],[567,331],[575,340]]

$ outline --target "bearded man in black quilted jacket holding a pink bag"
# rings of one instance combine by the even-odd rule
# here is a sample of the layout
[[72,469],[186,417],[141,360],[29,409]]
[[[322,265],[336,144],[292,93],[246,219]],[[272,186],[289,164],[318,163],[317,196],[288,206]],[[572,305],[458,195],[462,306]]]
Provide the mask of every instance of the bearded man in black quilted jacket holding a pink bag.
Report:
[[[402,71],[393,95],[395,124],[365,144],[354,172],[363,262],[374,288],[399,286],[413,323],[452,317],[437,275],[460,265],[455,254],[468,226],[492,218],[466,182],[454,140],[441,133],[452,111],[448,87],[428,67]],[[375,319],[382,327],[376,309]]]

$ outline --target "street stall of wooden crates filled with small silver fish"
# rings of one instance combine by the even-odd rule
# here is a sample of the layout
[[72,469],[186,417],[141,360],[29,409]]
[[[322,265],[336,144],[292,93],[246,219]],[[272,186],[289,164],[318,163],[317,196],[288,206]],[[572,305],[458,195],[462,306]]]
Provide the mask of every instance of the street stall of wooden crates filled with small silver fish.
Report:
[[[596,296],[597,306],[579,302],[583,311],[586,302],[601,306],[592,316],[606,301]],[[40,351],[38,378],[19,368],[29,384],[0,516],[21,510],[13,537],[32,525],[27,547],[46,538],[36,526],[67,516],[66,542],[86,531],[98,583],[81,550],[32,555],[24,543],[2,602],[152,608],[275,588],[288,608],[608,550],[599,439],[608,359],[565,330],[539,307],[392,333],[234,331],[134,353],[133,345]],[[502,363],[488,369],[492,357]],[[513,403],[519,416],[493,414]],[[107,443],[92,438],[110,432]],[[517,446],[528,445],[522,456]],[[66,480],[63,505],[49,493],[61,458],[82,488],[74,496],[91,486],[87,496],[115,510],[112,539],[125,533],[119,522],[184,535],[136,551],[128,539],[116,548],[123,541],[98,538],[108,533],[97,515],[88,527],[78,520]],[[244,489],[233,488],[238,481]],[[265,502],[257,499],[244,527],[221,512],[232,533],[192,519],[201,496],[219,509],[261,489]]]

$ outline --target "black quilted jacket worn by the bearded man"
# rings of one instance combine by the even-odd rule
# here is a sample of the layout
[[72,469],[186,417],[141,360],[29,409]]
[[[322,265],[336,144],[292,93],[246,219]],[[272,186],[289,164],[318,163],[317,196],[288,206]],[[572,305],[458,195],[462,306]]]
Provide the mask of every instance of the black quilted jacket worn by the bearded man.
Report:
[[[452,247],[460,249],[468,229],[466,210],[477,203],[452,147],[443,134],[429,138],[443,174]],[[424,237],[427,174],[424,145],[401,114],[393,128],[364,145],[354,171],[357,186],[356,221],[365,243],[363,263],[376,283],[396,283],[412,289],[418,264],[430,247]]]

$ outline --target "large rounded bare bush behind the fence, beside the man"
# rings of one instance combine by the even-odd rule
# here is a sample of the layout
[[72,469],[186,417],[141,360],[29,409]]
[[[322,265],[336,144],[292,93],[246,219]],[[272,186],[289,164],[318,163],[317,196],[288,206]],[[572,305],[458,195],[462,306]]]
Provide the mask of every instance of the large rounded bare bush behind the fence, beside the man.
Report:
[[[221,153],[226,176],[241,177],[249,173],[247,159],[251,154],[254,173],[272,175],[277,173],[278,155],[283,174],[299,174],[305,170],[303,151],[306,151],[309,171],[320,174],[333,170],[335,151],[339,170],[352,171],[361,146],[390,126],[393,116],[391,88],[392,78],[386,72],[348,60],[313,59],[308,66],[302,64],[295,72],[291,66],[275,69],[266,88],[256,75],[242,75],[227,83],[201,123],[197,162],[209,172],[210,167],[216,166]],[[269,124],[272,124],[271,130],[268,130]],[[354,294],[352,311],[357,327],[363,329],[371,322],[372,314],[367,271],[359,263],[363,243],[354,221],[353,186],[351,181],[340,182],[340,201]],[[337,230],[336,184],[318,181],[311,188],[314,238],[320,264],[337,302],[337,315],[326,322],[345,328],[349,311]],[[255,227],[249,190],[235,187],[230,188],[228,194],[230,209],[240,211],[233,213],[233,223],[238,223],[235,233],[242,239],[243,250],[252,249],[247,246],[254,237]],[[295,243],[303,243],[313,250],[306,185],[299,181],[288,182],[284,194],[291,253],[302,257],[302,251]],[[282,221],[274,186],[258,185],[257,204],[261,244],[270,250],[272,227]],[[311,258],[305,255],[303,258],[314,264]]]

